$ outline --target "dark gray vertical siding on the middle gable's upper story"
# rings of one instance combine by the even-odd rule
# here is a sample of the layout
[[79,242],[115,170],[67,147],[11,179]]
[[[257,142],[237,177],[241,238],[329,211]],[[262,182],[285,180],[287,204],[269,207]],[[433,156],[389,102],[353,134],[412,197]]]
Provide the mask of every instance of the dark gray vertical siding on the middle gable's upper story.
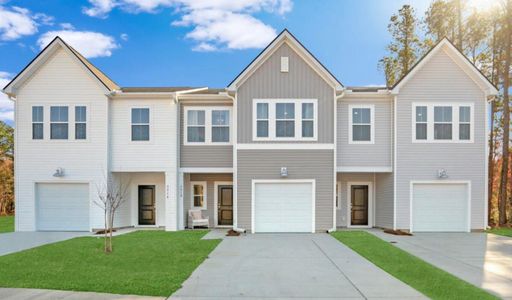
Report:
[[[281,56],[289,57],[289,73],[280,72]],[[334,142],[334,89],[294,50],[283,44],[238,88],[239,143],[253,142],[253,99],[280,98],[318,99],[318,143]]]

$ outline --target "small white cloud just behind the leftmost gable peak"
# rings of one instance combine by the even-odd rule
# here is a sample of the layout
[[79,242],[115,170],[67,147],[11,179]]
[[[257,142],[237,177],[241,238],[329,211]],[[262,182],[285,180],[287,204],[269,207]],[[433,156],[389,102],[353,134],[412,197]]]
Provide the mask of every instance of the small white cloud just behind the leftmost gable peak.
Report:
[[75,48],[87,58],[111,56],[112,50],[119,47],[111,36],[92,31],[57,30],[49,31],[39,37],[37,44],[43,49],[56,36]]

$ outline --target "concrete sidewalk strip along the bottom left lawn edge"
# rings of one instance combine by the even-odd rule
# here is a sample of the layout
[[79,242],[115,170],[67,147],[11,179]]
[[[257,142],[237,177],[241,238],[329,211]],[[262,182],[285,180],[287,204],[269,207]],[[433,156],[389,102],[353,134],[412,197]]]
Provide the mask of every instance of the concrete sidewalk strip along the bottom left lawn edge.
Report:
[[114,295],[90,292],[0,288],[2,300],[161,300],[162,297]]

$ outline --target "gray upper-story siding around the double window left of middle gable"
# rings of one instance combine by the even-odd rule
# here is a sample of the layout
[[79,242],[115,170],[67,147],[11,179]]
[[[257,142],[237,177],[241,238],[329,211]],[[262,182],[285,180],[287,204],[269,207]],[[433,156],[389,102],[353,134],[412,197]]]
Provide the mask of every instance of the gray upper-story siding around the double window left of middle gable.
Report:
[[[186,138],[184,113],[185,107],[191,106],[226,106],[226,103],[192,104],[185,103],[180,107],[180,167],[181,168],[232,168],[233,167],[233,146],[232,145],[184,145]],[[233,116],[230,116],[233,118]],[[232,122],[233,124],[233,122]],[[231,128],[231,133],[233,132]],[[234,138],[231,137],[234,142]]]

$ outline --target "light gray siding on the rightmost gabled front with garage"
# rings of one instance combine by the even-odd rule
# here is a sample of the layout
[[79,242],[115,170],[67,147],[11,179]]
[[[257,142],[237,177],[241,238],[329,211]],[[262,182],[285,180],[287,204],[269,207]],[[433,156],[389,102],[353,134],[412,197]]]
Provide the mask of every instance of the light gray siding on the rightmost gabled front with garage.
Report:
[[[473,143],[412,143],[413,102],[464,102],[474,104]],[[397,228],[409,229],[410,181],[437,179],[471,181],[471,228],[485,227],[486,133],[484,92],[443,50],[400,89],[397,96]],[[458,124],[454,124],[458,126]]]

